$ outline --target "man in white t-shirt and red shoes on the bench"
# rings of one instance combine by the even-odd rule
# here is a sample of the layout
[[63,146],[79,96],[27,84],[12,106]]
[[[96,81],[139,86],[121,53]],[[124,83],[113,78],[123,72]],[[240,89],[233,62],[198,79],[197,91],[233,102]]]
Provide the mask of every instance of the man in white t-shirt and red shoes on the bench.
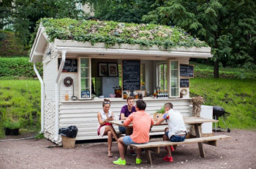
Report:
[[[156,125],[161,124],[164,121],[167,121],[168,127],[165,128],[165,135],[163,135],[164,141],[173,141],[173,142],[181,142],[184,141],[187,135],[187,129],[184,123],[183,116],[180,112],[173,110],[172,103],[165,103],[165,114],[157,119]],[[173,157],[171,156],[170,146],[166,146],[167,156],[162,160],[166,162],[173,162]]]

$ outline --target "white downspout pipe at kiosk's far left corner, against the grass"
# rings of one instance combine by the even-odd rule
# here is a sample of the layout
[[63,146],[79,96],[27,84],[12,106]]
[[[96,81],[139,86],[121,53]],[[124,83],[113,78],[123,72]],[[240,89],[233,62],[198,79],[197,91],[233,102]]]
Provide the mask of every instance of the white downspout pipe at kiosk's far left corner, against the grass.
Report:
[[45,84],[42,81],[42,77],[40,76],[39,72],[37,71],[37,63],[34,63],[34,72],[36,72],[37,78],[39,79],[41,84],[41,131],[39,133],[42,134],[44,133],[45,129]]

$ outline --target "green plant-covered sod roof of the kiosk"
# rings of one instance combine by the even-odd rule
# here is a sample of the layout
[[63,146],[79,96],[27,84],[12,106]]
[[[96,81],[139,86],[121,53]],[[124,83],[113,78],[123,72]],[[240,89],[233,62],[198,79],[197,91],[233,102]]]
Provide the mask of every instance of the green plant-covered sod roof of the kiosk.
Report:
[[157,45],[160,49],[173,47],[208,47],[206,42],[189,36],[183,29],[167,25],[117,23],[113,21],[73,20],[69,18],[42,18],[49,41],[54,39],[78,42],[115,44],[140,44],[140,47]]

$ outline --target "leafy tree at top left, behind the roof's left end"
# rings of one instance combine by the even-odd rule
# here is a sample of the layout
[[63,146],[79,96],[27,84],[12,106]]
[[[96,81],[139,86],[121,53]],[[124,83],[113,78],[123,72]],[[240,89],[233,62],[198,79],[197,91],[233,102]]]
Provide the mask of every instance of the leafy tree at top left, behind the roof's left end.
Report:
[[[42,17],[80,19],[86,17],[77,5],[83,0],[6,0],[12,5],[15,34],[23,45],[29,44],[31,33],[34,32],[37,21]],[[5,3],[7,4],[7,3]],[[10,5],[8,4],[8,5]]]

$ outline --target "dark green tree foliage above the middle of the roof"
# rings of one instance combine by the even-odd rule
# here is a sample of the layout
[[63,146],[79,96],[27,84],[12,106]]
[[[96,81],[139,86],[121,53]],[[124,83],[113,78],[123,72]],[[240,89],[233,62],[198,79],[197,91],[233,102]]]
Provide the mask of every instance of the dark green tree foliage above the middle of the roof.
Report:
[[151,11],[154,0],[85,0],[100,20],[142,23],[141,18]]

